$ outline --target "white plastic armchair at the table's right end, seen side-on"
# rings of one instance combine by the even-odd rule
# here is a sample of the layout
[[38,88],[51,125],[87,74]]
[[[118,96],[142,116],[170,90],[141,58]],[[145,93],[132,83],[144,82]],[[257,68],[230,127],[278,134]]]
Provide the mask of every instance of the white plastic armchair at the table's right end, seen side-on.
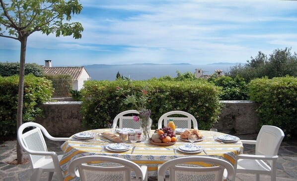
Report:
[[255,144],[255,155],[240,154],[235,163],[236,173],[256,174],[260,181],[260,174],[270,175],[271,181],[276,181],[276,161],[278,151],[285,134],[282,129],[263,125],[257,140],[241,140],[244,144]]

